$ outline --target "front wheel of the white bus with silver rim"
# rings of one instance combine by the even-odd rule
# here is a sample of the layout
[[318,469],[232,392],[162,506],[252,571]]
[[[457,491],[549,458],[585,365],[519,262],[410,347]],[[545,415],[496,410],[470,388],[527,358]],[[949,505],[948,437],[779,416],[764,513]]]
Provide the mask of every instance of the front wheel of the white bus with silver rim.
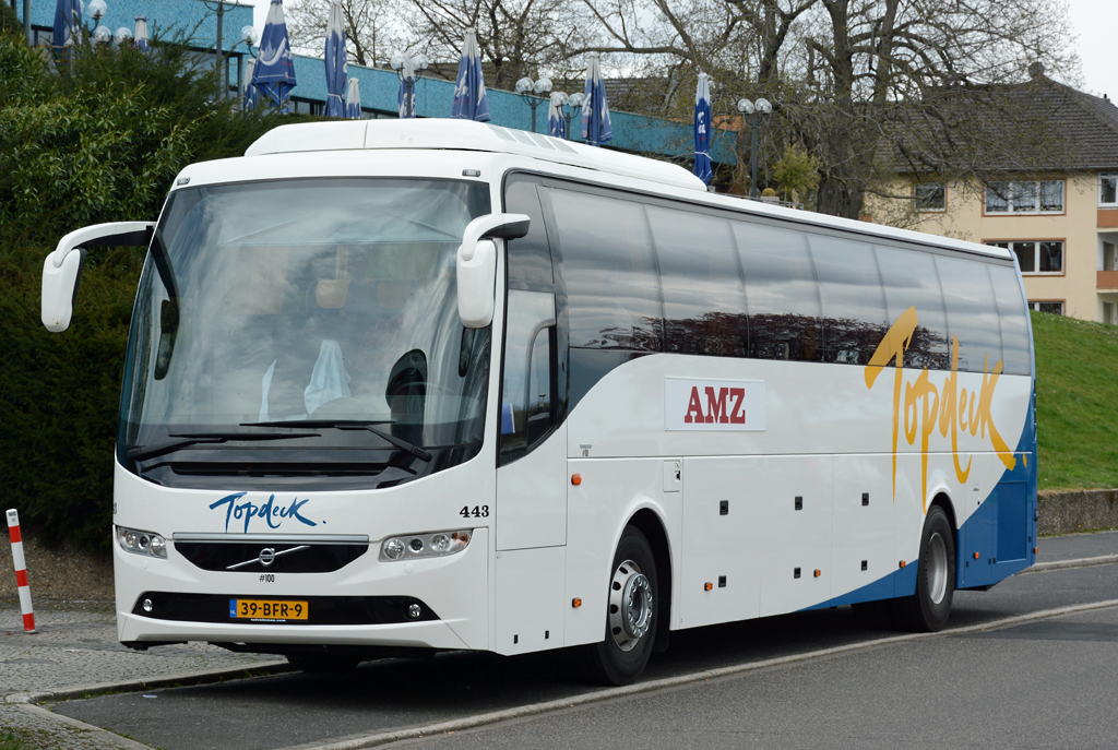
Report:
[[610,568],[606,632],[601,643],[585,646],[588,676],[627,685],[641,676],[656,640],[660,600],[656,563],[648,540],[625,526]]

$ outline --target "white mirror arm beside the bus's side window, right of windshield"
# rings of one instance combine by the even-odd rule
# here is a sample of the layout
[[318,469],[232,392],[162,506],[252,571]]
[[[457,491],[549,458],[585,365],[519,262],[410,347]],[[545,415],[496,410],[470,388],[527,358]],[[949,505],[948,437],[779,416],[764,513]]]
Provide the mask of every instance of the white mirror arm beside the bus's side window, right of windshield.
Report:
[[490,239],[517,239],[531,222],[523,213],[490,213],[466,226],[458,247],[458,317],[467,329],[493,322],[496,296],[496,244]]

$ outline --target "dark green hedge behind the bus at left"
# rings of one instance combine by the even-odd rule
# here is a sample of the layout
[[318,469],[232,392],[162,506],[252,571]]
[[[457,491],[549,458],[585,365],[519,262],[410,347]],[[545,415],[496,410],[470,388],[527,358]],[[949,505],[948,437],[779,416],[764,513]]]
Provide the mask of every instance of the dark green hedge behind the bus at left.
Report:
[[[10,9],[6,9],[10,10]],[[0,18],[0,488],[47,543],[107,549],[113,443],[138,248],[96,248],[63,334],[39,320],[42,262],[102,221],[153,220],[188,163],[234,156],[292,122],[218,104],[183,39],[145,55],[27,47]]]

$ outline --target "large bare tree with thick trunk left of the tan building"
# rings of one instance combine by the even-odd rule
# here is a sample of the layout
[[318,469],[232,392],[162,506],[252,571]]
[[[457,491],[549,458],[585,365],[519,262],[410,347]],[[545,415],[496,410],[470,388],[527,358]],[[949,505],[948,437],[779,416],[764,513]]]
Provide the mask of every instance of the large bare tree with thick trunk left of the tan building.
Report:
[[1011,112],[1013,97],[969,99],[966,111],[958,92],[1023,82],[1036,60],[1065,78],[1077,70],[1063,0],[584,2],[604,31],[569,55],[593,49],[708,72],[730,89],[719,103],[727,114],[737,94],[768,95],[774,152],[806,146],[822,164],[818,210],[851,218],[898,158],[939,172],[975,167],[988,145],[983,107],[1026,124]]

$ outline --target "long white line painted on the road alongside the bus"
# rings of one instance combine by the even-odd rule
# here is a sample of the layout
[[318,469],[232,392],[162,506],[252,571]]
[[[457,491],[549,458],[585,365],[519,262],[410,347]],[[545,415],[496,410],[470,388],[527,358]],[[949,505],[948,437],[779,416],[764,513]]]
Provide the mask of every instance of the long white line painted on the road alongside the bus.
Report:
[[[757,672],[759,670],[767,670],[776,666],[786,666],[790,664],[797,664],[800,662],[808,662],[824,656],[833,656],[835,654],[845,654],[849,652],[873,648],[875,646],[885,646],[897,643],[904,643],[908,640],[918,640],[922,638],[936,638],[936,637],[945,637],[954,635],[965,635],[967,633],[979,633],[982,630],[992,630],[995,628],[1017,625],[1021,623],[1027,623],[1030,620],[1044,619],[1048,617],[1059,617],[1061,615],[1072,615],[1081,611],[1090,611],[1092,609],[1106,609],[1108,607],[1116,607],[1116,606],[1118,606],[1118,599],[1108,599],[1106,601],[1093,601],[1090,604],[1071,605],[1068,607],[1057,607],[1054,609],[1044,609],[1042,611],[1030,613],[1027,615],[1016,615],[1014,617],[1005,617],[998,620],[993,620],[991,623],[983,623],[979,625],[968,625],[966,627],[953,628],[950,630],[941,630],[939,633],[909,633],[900,636],[874,638],[873,640],[864,640],[861,643],[846,644],[843,646],[833,646],[831,648],[823,648],[819,651],[808,652],[804,654],[778,656],[776,658],[762,659],[760,662],[750,662],[748,664],[736,664],[733,666],[724,666],[724,667],[719,667],[717,670],[703,670],[701,672],[692,672],[690,674],[676,675],[674,677],[662,677],[660,680],[650,680],[648,682],[642,682],[635,685],[625,685],[624,687],[607,687],[605,690],[594,691],[591,693],[582,693],[580,695],[571,695],[570,697],[558,699],[555,701],[531,703],[529,705],[521,705],[512,709],[504,709],[501,711],[491,711],[489,713],[476,714],[473,716],[464,716],[462,719],[452,719],[451,721],[440,721],[433,724],[424,724],[421,727],[411,727],[408,729],[399,729],[390,732],[376,732],[372,734],[367,734],[364,737],[358,737],[335,742],[321,742],[321,743],[311,742],[306,744],[300,744],[297,747],[301,750],[312,750],[312,749],[313,750],[363,750],[364,748],[375,748],[382,744],[389,744],[391,742],[399,742],[401,740],[415,740],[432,734],[445,734],[447,732],[458,732],[462,730],[475,729],[477,727],[484,727],[486,724],[495,724],[498,722],[509,721],[512,719],[523,719],[524,716],[534,716],[544,713],[552,713],[556,711],[561,711],[563,709],[572,709],[575,706],[587,705],[589,703],[600,703],[617,697],[627,697],[629,695],[652,693],[661,690],[666,690],[670,687],[678,687],[680,685],[689,685],[698,682],[704,682],[707,680],[714,680],[717,677],[739,675],[747,672]],[[290,748],[287,750],[293,750],[293,748]]]

